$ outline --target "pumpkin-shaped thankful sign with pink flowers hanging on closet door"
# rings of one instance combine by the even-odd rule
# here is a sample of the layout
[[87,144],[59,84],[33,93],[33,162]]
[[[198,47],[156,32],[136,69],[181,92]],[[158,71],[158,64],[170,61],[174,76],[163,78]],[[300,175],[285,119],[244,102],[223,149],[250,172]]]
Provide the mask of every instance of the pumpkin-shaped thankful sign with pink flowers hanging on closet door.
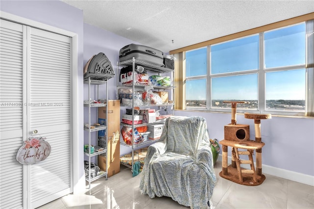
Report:
[[29,137],[17,153],[17,161],[22,164],[33,164],[45,160],[51,152],[51,146],[45,139],[43,137]]

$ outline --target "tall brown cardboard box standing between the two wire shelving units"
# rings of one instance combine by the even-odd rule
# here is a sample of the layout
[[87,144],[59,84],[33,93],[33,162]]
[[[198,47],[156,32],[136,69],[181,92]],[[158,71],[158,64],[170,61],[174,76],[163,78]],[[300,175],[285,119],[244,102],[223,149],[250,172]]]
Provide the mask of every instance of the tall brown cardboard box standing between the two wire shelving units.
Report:
[[[106,108],[108,107],[108,118],[106,118]],[[120,100],[108,100],[106,107],[98,107],[98,118],[107,119],[107,156],[108,175],[111,177],[120,172]],[[98,156],[98,166],[106,169],[105,156]]]

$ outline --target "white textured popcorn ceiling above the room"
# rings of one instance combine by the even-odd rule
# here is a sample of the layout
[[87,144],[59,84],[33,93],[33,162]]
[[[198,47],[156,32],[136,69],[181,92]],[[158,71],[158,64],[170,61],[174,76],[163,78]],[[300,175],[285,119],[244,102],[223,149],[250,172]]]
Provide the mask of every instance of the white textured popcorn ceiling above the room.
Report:
[[84,23],[162,52],[314,12],[314,0],[62,1]]

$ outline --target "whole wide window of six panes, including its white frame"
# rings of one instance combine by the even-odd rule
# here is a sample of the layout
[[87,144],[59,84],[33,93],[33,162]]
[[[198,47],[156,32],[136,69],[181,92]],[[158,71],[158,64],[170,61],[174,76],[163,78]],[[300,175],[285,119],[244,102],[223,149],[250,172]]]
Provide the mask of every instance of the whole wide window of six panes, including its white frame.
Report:
[[305,23],[185,52],[186,109],[238,109],[304,115]]

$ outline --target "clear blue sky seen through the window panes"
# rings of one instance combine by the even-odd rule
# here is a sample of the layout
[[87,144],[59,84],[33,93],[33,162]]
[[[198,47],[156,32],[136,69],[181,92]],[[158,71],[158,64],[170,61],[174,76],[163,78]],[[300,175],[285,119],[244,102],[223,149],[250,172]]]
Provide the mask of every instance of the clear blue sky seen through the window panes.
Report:
[[[305,63],[305,24],[264,33],[264,68]],[[211,46],[211,73],[259,68],[259,36]],[[207,48],[186,52],[186,76],[207,74]],[[206,80],[188,81],[187,100],[206,99]],[[257,100],[257,74],[213,78],[212,100]],[[305,70],[266,73],[266,100],[305,100]]]

